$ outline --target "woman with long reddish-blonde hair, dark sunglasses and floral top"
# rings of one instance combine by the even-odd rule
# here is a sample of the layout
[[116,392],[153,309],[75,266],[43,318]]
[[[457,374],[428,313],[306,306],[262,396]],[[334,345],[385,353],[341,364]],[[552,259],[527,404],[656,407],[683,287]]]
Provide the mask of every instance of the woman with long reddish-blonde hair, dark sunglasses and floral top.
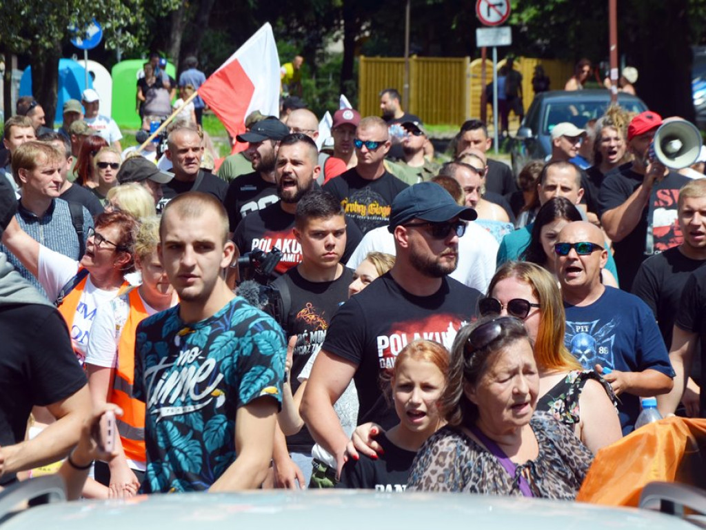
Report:
[[539,370],[537,410],[554,414],[592,452],[621,438],[610,385],[593,370],[583,370],[564,346],[566,316],[554,276],[533,263],[508,261],[493,276],[488,296],[479,300],[479,313],[509,314],[524,322]]

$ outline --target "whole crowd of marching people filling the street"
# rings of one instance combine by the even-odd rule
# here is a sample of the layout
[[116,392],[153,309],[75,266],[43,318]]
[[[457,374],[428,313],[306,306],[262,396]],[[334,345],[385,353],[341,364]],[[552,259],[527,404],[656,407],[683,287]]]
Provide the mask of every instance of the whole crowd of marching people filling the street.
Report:
[[[176,88],[159,66],[146,123]],[[213,172],[203,107],[162,160],[124,158],[97,101],[56,132],[5,123],[1,485],[61,467],[73,497],[570,500],[641,397],[704,410],[706,179],[652,158],[656,112],[552,124],[549,158],[513,175],[476,119],[438,164],[389,88],[382,117],[335,112],[328,150],[311,110],[253,112]],[[113,452],[90,430],[107,409]]]

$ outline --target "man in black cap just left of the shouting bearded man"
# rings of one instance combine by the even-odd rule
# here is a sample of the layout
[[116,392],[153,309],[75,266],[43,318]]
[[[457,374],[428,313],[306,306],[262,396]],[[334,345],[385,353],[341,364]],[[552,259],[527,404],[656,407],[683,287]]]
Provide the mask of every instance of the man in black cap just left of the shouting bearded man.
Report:
[[[230,231],[234,232],[241,219],[279,200],[275,182],[275,160],[280,140],[289,134],[289,127],[276,117],[268,117],[239,134],[239,142],[249,142],[246,151],[253,172],[234,179],[225,197]],[[318,156],[318,155],[317,155]]]

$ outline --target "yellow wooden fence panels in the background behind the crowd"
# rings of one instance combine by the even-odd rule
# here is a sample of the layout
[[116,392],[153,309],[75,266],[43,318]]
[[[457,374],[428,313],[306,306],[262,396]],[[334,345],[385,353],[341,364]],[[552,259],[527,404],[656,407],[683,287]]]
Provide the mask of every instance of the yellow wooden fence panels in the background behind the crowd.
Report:
[[[498,61],[498,69],[505,59]],[[532,76],[541,64],[551,80],[551,89],[564,86],[573,73],[573,64],[554,59],[517,57],[515,70],[522,73],[525,110],[534,98]],[[405,59],[398,57],[360,57],[358,74],[359,111],[363,116],[380,114],[380,91],[396,88],[402,94]],[[486,59],[486,83],[493,78],[493,62]],[[468,57],[410,57],[409,108],[428,124],[460,125],[481,115],[481,59]],[[490,102],[491,103],[491,102]],[[492,110],[489,105],[488,119]],[[514,117],[513,117],[514,119]],[[517,124],[515,123],[515,126]]]

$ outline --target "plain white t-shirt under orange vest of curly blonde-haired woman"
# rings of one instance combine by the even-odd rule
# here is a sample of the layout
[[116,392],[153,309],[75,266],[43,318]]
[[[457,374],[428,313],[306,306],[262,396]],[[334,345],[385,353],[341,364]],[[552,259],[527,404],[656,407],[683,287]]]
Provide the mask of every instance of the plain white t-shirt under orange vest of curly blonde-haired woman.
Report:
[[[117,367],[120,334],[130,312],[128,296],[128,293],[125,293],[98,308],[90,331],[90,339],[88,340],[86,364],[103,368]],[[140,293],[138,293],[138,296],[140,296]],[[140,296],[140,301],[145,306],[148,316],[157,312],[145,302],[142,296]]]

